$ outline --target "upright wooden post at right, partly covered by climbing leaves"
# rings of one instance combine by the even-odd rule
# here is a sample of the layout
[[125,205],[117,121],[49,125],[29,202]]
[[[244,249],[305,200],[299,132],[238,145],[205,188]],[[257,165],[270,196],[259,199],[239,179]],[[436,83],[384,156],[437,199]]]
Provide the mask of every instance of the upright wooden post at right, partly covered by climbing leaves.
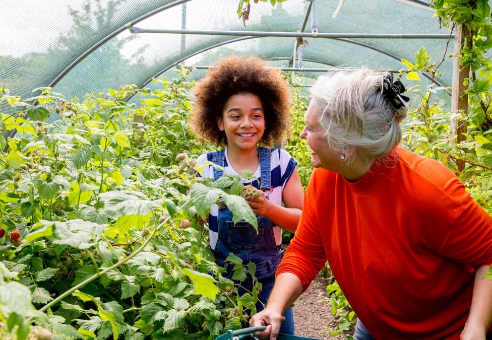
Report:
[[[465,25],[457,25],[455,38],[454,38],[454,54],[456,55],[453,60],[453,91],[451,95],[451,111],[462,111],[465,115],[468,114],[468,95],[465,90],[468,86],[464,86],[463,82],[470,75],[469,66],[461,66],[461,59],[459,57],[460,48],[465,43],[465,39],[470,32]],[[460,143],[465,140],[466,132],[466,120],[452,120],[451,121],[451,137],[456,136],[456,143]],[[454,144],[454,143],[453,143]],[[461,173],[465,169],[465,162],[458,160],[458,173]]]

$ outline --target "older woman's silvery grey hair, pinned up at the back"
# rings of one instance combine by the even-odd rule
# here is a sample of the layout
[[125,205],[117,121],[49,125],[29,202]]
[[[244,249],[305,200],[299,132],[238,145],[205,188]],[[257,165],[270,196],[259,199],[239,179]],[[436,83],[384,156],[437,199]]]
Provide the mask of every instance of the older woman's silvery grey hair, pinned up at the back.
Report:
[[400,121],[408,105],[398,110],[383,96],[382,84],[389,74],[368,69],[339,69],[321,76],[311,89],[321,112],[328,147],[346,155],[354,153],[366,165],[388,156],[401,142]]

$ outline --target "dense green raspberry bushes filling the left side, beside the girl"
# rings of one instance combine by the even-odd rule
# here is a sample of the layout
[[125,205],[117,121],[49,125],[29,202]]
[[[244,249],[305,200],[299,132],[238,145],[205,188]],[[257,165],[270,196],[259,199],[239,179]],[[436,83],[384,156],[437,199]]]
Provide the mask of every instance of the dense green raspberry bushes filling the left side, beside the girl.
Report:
[[[19,133],[0,140],[0,337],[211,339],[247,324],[259,287],[238,297],[199,216],[218,199],[237,219],[254,214],[238,192],[195,177],[204,146],[188,132],[188,72],[81,103],[2,89],[15,113],[0,113],[1,127]],[[235,278],[254,274],[230,261]]]

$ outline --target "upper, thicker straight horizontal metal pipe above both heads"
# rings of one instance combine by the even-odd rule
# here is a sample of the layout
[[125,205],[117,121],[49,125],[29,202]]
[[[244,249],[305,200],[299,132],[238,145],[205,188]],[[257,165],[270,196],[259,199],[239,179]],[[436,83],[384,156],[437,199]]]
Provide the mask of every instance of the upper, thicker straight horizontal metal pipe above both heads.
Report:
[[[261,32],[261,31],[212,31],[212,30],[170,30],[129,27],[133,34],[198,34],[233,35],[252,37],[290,37],[290,38],[357,38],[357,39],[449,39],[449,34],[407,34],[407,33],[303,33],[303,32]],[[454,35],[453,35],[454,36]]]

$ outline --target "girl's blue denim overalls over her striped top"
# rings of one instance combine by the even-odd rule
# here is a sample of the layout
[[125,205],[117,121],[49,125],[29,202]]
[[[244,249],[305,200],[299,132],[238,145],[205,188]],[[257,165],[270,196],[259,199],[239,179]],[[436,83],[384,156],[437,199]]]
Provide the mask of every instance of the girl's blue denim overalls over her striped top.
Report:
[[[260,189],[270,190],[271,150],[259,147],[258,153],[260,156],[261,170]],[[212,162],[224,167],[225,150],[219,150],[212,153]],[[222,170],[214,168],[213,171],[214,181],[223,175]],[[252,185],[258,188],[257,181],[253,181]],[[240,221],[234,225],[232,222],[232,213],[225,205],[219,206],[217,219],[219,236],[215,249],[212,249],[217,264],[226,268],[227,273],[224,276],[230,279],[233,275],[232,268],[234,265],[225,262],[229,253],[234,253],[241,258],[244,266],[247,266],[250,261],[255,263],[256,278],[263,286],[258,299],[266,304],[275,282],[275,271],[277,270],[283,255],[283,251],[280,250],[280,246],[277,246],[275,241],[272,222],[263,216],[257,216],[257,234],[253,226],[245,221]],[[251,292],[253,289],[252,278],[248,275],[247,279],[240,283],[240,285],[246,289],[239,288],[238,291],[240,295],[247,291]],[[256,308],[258,311],[263,310],[263,305],[258,302]],[[286,320],[282,322],[280,332],[284,334],[294,334],[292,308],[289,308],[283,315]]]

